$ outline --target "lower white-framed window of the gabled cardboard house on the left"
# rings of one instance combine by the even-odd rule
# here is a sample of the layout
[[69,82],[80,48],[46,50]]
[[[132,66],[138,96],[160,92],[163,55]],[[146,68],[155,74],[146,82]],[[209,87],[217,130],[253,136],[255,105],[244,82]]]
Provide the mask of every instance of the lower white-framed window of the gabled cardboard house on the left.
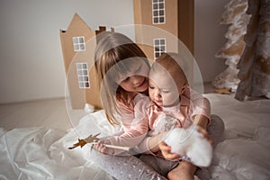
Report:
[[76,63],[76,74],[79,88],[90,88],[87,63]]

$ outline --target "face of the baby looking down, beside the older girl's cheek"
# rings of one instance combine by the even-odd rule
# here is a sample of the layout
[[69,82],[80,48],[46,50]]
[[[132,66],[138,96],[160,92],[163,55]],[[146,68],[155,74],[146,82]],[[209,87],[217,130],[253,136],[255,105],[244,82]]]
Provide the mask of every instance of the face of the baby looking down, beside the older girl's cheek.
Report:
[[150,99],[160,107],[179,102],[177,86],[168,73],[151,72],[148,76],[148,93]]

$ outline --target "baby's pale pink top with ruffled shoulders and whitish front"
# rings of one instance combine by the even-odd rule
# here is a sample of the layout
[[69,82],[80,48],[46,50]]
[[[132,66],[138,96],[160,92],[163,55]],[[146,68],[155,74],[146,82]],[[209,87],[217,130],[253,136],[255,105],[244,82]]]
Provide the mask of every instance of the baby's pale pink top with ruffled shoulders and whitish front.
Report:
[[[188,128],[193,124],[195,115],[204,115],[210,120],[209,100],[204,98],[202,94],[198,94],[192,89],[189,90],[180,96],[180,103],[170,107],[159,107],[151,102],[148,97],[140,98],[134,110],[147,114],[149,130],[146,138],[134,148],[137,152],[151,153],[148,147],[150,137],[174,127]],[[140,94],[140,96],[142,95]]]

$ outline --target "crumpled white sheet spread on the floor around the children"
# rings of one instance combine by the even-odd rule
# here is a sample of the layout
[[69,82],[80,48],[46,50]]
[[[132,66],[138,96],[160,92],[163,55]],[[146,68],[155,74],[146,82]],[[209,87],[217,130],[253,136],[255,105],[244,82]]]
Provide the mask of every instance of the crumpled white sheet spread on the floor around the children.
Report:
[[[214,150],[212,179],[269,179],[270,100],[238,102],[231,95],[205,94],[212,113],[225,122],[225,140]],[[89,146],[67,149],[77,138],[118,130],[103,111],[82,118],[68,132],[47,128],[0,129],[0,179],[112,179],[89,160]]]

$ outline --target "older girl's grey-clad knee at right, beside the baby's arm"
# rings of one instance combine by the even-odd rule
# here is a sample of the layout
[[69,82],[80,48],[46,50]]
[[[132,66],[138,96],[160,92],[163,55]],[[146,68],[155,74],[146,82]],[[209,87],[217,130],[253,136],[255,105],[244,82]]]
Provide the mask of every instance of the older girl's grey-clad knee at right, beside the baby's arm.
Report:
[[224,139],[224,122],[222,119],[215,114],[211,115],[211,123],[207,127],[207,131],[213,139],[213,147],[215,147],[218,143],[220,143]]

